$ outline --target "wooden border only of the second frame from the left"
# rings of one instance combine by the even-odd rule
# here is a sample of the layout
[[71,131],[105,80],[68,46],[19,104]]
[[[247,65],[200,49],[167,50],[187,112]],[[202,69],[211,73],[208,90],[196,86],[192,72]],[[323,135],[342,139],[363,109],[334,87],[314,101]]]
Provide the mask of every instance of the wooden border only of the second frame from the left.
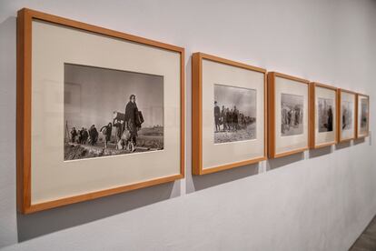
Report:
[[[264,75],[264,150],[262,157],[235,162],[223,166],[203,168],[203,59],[224,65],[232,65]],[[201,176],[212,174],[238,166],[251,165],[267,158],[267,85],[266,70],[252,65],[245,65],[215,55],[194,53],[192,55],[192,173]]]

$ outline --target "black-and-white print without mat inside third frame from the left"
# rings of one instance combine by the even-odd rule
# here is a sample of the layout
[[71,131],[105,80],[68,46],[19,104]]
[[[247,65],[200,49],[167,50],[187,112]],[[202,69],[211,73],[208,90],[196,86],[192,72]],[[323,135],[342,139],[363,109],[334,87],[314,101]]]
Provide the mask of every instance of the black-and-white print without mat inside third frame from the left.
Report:
[[302,95],[281,94],[281,134],[296,136],[303,133]]

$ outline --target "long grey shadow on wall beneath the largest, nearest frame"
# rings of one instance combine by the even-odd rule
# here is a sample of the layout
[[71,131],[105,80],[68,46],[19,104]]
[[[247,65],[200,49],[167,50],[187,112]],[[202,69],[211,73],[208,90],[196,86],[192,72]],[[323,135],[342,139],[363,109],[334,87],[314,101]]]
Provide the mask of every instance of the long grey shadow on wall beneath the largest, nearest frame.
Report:
[[[176,186],[173,186],[173,185]],[[131,192],[106,196],[37,212],[31,215],[17,214],[18,241],[44,236],[65,228],[79,226],[108,216],[148,206],[180,196],[180,181],[151,186]]]

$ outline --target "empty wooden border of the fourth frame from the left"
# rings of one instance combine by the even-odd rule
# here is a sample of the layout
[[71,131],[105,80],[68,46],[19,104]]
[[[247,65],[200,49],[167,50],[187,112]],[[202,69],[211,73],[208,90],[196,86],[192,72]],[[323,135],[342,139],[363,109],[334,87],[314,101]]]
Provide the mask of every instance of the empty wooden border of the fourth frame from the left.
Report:
[[[310,110],[310,140],[309,140],[309,144],[310,144],[310,148],[311,149],[317,149],[317,148],[322,148],[322,147],[325,147],[325,146],[331,146],[331,145],[336,145],[337,144],[337,141],[338,141],[338,132],[335,133],[334,135],[334,141],[331,141],[329,143],[324,143],[324,144],[320,144],[320,145],[316,145],[316,142],[315,142],[315,136],[316,136],[316,128],[315,128],[315,125],[316,125],[316,105],[315,105],[315,100],[316,100],[316,92],[315,92],[315,88],[316,87],[322,87],[322,88],[326,88],[326,89],[329,89],[329,90],[332,90],[334,91],[335,93],[335,100],[334,100],[334,104],[336,105],[336,109],[335,109],[335,117],[333,117],[333,121],[335,120],[336,124],[337,124],[337,105],[338,105],[338,102],[337,102],[337,99],[338,99],[338,95],[337,95],[337,87],[334,87],[334,86],[331,86],[331,85],[324,85],[324,84],[321,84],[321,83],[317,83],[317,82],[311,82],[310,83],[310,107],[311,107],[311,110]],[[338,130],[338,126],[335,126],[335,129]]]

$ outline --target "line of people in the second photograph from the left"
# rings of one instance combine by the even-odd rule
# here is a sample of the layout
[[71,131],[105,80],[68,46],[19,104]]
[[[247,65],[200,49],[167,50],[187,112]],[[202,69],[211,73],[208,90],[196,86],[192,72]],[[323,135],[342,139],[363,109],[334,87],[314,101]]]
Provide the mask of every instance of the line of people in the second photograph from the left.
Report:
[[237,131],[239,129],[245,128],[252,123],[252,118],[250,116],[245,116],[233,105],[233,108],[225,107],[222,105],[222,110],[218,105],[217,101],[214,101],[214,123],[215,132],[222,131],[230,132]]

